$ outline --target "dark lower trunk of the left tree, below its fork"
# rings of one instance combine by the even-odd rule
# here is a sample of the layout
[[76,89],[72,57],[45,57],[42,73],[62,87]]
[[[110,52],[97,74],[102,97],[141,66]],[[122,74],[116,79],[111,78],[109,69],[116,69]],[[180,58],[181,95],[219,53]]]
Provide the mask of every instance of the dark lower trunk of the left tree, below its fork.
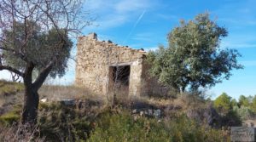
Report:
[[34,125],[37,123],[39,96],[38,90],[25,84],[24,105],[21,122]]

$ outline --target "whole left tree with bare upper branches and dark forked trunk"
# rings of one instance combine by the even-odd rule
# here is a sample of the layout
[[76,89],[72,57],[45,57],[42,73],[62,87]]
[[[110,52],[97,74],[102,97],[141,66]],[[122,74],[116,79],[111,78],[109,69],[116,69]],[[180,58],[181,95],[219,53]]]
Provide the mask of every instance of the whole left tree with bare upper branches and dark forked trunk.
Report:
[[38,89],[46,77],[65,74],[73,45],[70,37],[90,21],[81,9],[79,0],[0,1],[0,71],[23,78],[21,122],[37,121]]

